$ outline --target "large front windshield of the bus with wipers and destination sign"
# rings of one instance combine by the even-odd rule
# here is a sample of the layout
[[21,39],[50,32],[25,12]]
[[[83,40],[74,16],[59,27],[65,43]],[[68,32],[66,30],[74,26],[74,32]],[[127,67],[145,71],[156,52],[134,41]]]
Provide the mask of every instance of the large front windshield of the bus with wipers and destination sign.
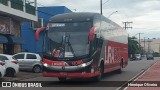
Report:
[[56,58],[72,58],[89,54],[88,32],[91,23],[50,23],[49,51]]

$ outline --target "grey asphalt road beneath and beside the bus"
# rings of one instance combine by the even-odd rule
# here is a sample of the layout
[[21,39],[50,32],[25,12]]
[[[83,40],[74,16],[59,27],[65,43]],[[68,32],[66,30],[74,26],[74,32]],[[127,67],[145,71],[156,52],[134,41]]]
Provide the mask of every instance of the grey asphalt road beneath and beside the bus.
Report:
[[[143,59],[143,60],[137,60],[137,61],[129,61],[128,66],[123,69],[123,72],[121,74],[116,74],[113,72],[107,73],[103,77],[102,82],[111,81],[111,82],[106,82],[106,83],[111,83],[114,85],[116,83],[116,81],[128,81],[131,78],[133,78],[134,76],[136,76],[138,73],[140,73],[141,71],[146,70],[148,67],[150,67],[152,64],[154,64],[158,59],[159,58],[155,58],[155,60]],[[54,84],[57,84],[57,82],[58,82],[57,78],[44,78],[41,76],[32,77],[30,79],[25,78],[25,79],[20,79],[20,80],[22,80],[22,81],[54,81],[54,83],[46,82],[46,85],[50,86],[47,88],[47,90],[50,90],[50,89],[52,89],[52,90],[64,90],[64,89],[65,90],[71,90],[71,89],[76,89],[76,90],[89,90],[89,89],[92,89],[92,90],[98,90],[98,89],[99,90],[116,90],[118,88],[118,87],[100,87],[99,84],[101,84],[101,82],[100,83],[99,82],[87,82],[87,83],[85,83],[85,86],[81,86],[80,83],[79,83],[79,86],[74,86],[74,85],[69,84],[69,87],[66,87],[64,84],[60,84],[58,87],[55,87]],[[41,90],[41,89],[45,89],[45,88],[33,88],[33,89]],[[5,90],[5,89],[3,88],[3,90]],[[9,90],[9,88],[7,88],[7,90]],[[12,90],[14,90],[14,88]],[[15,88],[15,90],[17,90],[17,88]]]

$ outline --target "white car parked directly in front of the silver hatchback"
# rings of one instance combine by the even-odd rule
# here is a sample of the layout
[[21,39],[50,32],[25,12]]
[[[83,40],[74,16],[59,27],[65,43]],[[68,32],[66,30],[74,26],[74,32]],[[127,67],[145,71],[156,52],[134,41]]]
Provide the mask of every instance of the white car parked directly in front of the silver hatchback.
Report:
[[14,77],[19,72],[19,63],[13,56],[0,54],[0,59],[5,62],[6,76]]

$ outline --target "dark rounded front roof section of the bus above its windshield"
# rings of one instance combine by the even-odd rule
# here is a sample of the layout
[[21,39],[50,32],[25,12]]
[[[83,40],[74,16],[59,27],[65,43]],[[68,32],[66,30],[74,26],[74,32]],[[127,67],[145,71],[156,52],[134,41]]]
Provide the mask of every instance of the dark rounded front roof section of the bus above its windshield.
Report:
[[89,12],[58,14],[58,15],[51,17],[49,22],[92,21],[96,15],[100,15],[100,14],[99,13],[89,13]]

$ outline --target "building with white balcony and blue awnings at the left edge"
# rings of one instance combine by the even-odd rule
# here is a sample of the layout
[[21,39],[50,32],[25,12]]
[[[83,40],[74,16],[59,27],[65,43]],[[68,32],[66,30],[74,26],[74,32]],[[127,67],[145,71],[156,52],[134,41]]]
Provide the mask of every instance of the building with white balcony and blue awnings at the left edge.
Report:
[[0,53],[14,54],[24,44],[20,27],[24,21],[37,21],[37,0],[0,0]]

